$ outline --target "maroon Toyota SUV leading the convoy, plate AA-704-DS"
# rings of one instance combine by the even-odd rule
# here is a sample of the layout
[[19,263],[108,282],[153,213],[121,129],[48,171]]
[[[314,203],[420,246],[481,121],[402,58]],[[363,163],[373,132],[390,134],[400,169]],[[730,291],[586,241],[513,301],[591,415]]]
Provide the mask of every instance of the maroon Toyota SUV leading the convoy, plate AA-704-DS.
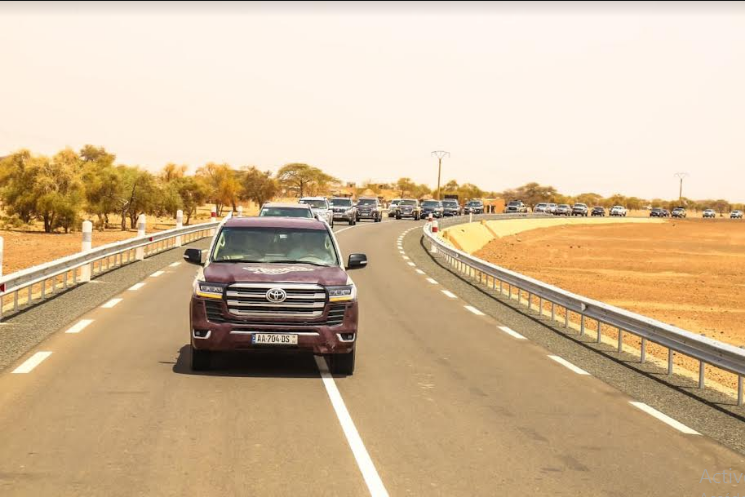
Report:
[[[187,249],[203,266],[191,298],[191,366],[213,352],[291,349],[327,356],[332,373],[354,372],[357,290],[331,228],[316,219],[229,218],[209,250]],[[346,269],[364,267],[351,254]]]

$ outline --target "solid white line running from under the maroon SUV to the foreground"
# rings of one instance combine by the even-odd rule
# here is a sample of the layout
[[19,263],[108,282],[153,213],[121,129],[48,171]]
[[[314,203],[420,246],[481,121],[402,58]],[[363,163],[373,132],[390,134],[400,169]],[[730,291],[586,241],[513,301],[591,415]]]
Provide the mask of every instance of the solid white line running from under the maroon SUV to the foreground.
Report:
[[349,415],[349,411],[347,411],[347,406],[344,405],[344,399],[342,399],[339,389],[336,388],[334,377],[329,373],[326,360],[318,356],[315,359],[318,371],[321,373],[323,385],[326,387],[326,393],[329,399],[331,399],[331,405],[334,407],[336,417],[339,419],[339,424],[341,424],[344,435],[347,437],[347,443],[349,443],[349,447],[352,449],[352,454],[357,461],[360,472],[362,472],[362,477],[365,479],[370,495],[373,497],[388,497],[388,492],[383,485],[383,481],[380,479],[380,475],[378,475],[372,459],[370,459],[370,454],[365,449],[365,444],[362,442],[362,438],[354,426],[354,421],[352,421],[352,417]]

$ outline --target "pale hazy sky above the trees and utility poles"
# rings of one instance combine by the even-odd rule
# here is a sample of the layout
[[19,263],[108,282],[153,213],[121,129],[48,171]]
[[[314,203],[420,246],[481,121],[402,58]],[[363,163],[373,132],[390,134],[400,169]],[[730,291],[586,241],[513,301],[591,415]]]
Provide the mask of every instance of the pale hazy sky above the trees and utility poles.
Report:
[[745,5],[0,4],[0,155],[745,201]]

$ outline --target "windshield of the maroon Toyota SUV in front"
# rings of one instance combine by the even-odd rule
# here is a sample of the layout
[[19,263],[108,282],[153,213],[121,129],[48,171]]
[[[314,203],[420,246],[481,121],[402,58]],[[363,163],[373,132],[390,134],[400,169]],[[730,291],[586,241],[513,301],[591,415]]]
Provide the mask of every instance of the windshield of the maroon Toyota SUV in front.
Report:
[[223,228],[210,260],[339,265],[326,230],[300,228]]

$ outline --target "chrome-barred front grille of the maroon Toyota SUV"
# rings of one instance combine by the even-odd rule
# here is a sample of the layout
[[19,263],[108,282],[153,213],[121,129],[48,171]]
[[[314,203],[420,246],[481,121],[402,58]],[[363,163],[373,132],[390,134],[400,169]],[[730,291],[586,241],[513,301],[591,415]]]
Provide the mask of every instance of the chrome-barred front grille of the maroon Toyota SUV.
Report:
[[[284,302],[266,298],[272,288],[287,293]],[[235,283],[225,293],[228,312],[241,317],[317,319],[326,306],[326,290],[320,285],[281,283]]]

